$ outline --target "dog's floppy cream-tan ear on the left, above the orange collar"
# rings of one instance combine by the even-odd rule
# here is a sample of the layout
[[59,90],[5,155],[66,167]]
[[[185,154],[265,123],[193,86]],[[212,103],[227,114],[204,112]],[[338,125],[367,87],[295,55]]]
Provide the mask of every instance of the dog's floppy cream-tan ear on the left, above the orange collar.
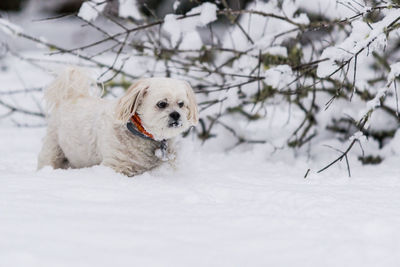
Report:
[[135,114],[147,88],[149,88],[149,85],[146,79],[141,79],[128,88],[125,95],[118,100],[115,111],[117,120],[124,123],[130,120]]

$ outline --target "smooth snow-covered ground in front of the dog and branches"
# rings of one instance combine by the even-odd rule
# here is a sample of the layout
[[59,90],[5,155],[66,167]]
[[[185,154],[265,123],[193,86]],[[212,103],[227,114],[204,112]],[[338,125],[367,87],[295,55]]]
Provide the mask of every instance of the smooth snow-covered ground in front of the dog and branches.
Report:
[[0,266],[399,266],[400,166],[333,168],[182,143],[177,169],[37,172],[44,129],[0,128]]

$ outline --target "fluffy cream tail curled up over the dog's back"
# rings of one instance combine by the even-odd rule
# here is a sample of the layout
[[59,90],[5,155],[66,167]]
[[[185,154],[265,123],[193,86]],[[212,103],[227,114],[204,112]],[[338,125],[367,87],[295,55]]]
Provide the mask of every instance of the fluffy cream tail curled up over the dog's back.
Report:
[[78,67],[68,67],[46,88],[44,99],[47,113],[56,109],[63,101],[93,95],[91,89],[96,89],[96,81],[90,78],[88,72]]

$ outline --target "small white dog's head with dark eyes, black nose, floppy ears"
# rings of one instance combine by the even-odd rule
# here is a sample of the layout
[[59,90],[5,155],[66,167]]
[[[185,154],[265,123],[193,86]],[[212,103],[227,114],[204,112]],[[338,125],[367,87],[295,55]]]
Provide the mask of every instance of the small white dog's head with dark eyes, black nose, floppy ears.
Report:
[[147,78],[132,84],[117,104],[117,120],[127,123],[137,113],[156,140],[169,139],[198,123],[190,85],[171,78]]

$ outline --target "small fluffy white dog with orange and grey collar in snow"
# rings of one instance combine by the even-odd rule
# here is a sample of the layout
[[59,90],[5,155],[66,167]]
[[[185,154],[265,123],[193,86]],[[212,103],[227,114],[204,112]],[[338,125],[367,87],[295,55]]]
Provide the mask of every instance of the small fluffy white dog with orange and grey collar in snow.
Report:
[[69,68],[45,91],[48,128],[38,168],[103,164],[128,176],[174,156],[172,139],[198,122],[190,85],[171,78],[134,83],[118,100],[93,96],[93,81]]

